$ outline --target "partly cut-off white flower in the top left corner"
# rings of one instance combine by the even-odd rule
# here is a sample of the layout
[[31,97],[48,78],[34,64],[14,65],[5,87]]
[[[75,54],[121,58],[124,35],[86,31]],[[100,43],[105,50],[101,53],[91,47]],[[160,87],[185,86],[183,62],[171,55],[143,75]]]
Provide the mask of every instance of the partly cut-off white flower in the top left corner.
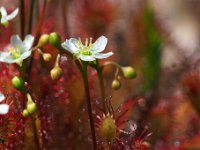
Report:
[[11,14],[7,14],[7,11],[4,7],[0,7],[0,19],[1,19],[1,24],[4,26],[8,26],[8,21],[15,18],[19,12],[19,9],[15,9]]

